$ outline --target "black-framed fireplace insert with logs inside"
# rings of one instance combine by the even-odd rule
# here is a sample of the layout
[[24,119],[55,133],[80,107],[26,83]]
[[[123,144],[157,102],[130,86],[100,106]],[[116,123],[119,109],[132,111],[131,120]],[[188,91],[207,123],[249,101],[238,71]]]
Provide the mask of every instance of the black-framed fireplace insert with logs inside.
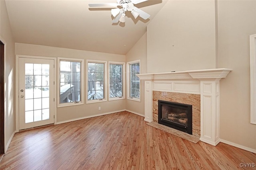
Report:
[[158,123],[192,135],[192,105],[158,100]]

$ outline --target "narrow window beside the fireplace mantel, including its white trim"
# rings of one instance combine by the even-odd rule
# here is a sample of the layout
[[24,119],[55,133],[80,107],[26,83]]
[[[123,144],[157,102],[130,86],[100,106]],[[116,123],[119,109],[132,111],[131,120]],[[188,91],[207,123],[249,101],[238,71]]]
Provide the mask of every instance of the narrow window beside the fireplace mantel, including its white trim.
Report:
[[140,102],[140,78],[136,74],[140,74],[140,60],[127,63],[127,94],[128,99]]

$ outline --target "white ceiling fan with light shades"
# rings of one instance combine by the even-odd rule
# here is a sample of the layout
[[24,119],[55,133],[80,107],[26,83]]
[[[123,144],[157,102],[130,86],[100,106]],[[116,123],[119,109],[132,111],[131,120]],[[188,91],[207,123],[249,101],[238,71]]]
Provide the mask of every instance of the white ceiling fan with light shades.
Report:
[[[90,7],[116,7],[111,10],[112,16],[114,16],[114,20],[112,23],[125,22],[125,12],[130,11],[134,18],[136,19],[138,16],[143,18],[144,20],[148,19],[150,15],[136,6],[134,4],[138,4],[141,2],[145,2],[147,0],[117,0],[117,3],[96,3],[89,4]],[[122,6],[122,8],[117,8],[118,6]]]

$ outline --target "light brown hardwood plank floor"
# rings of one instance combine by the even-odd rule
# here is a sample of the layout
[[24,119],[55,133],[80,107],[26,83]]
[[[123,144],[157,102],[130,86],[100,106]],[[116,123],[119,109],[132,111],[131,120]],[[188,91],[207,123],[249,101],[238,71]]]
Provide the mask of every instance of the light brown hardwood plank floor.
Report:
[[0,169],[256,170],[252,152],[224,143],[195,144],[143,119],[123,111],[16,133]]

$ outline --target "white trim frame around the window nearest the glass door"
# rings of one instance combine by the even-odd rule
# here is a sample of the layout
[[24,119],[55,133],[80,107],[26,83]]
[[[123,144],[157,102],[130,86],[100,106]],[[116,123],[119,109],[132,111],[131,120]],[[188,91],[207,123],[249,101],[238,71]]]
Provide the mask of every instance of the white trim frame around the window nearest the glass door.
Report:
[[[67,106],[76,106],[84,104],[84,59],[72,59],[72,58],[62,58],[58,57],[58,71],[57,71],[57,107],[67,107]],[[80,72],[80,102],[70,102],[60,104],[60,61],[72,61],[72,62],[81,62],[81,72]]]

